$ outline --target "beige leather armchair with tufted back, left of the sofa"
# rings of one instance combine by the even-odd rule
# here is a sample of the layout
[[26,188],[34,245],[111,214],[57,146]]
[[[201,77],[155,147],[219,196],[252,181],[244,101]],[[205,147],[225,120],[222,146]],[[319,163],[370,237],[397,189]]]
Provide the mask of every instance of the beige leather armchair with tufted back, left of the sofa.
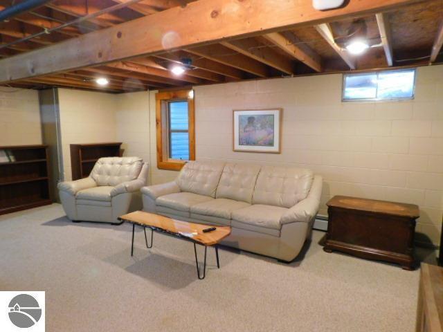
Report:
[[138,157],[100,158],[89,177],[58,184],[64,212],[72,221],[121,223],[118,216],[141,210],[147,171]]

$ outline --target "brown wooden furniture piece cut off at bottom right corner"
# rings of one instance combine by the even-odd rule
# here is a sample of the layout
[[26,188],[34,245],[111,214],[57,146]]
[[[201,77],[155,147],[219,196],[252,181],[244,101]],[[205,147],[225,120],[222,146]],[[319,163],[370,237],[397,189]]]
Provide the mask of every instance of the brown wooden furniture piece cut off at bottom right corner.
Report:
[[415,331],[443,331],[443,268],[438,266],[422,263]]

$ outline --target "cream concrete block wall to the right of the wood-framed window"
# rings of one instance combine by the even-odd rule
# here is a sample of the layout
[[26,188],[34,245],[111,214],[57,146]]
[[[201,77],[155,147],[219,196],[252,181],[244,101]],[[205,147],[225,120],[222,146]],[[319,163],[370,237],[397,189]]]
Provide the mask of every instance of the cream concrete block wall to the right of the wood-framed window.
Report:
[[[197,159],[313,169],[325,179],[320,214],[337,194],[418,204],[417,230],[439,243],[443,66],[418,68],[415,99],[402,102],[341,102],[341,81],[335,74],[196,86]],[[254,107],[283,108],[281,154],[233,152],[233,109]]]

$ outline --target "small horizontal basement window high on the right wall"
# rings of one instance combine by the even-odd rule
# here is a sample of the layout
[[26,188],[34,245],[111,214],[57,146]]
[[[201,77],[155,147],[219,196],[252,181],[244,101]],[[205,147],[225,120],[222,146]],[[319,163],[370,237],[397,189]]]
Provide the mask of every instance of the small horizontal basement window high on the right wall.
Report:
[[343,75],[344,102],[414,98],[415,69]]

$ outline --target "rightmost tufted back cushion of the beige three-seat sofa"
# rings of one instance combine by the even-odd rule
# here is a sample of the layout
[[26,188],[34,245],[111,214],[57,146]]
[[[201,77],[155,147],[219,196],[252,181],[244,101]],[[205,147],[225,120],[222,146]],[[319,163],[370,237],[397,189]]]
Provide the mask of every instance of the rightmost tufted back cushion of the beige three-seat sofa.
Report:
[[313,180],[310,169],[263,166],[255,184],[253,204],[291,208],[307,197]]

